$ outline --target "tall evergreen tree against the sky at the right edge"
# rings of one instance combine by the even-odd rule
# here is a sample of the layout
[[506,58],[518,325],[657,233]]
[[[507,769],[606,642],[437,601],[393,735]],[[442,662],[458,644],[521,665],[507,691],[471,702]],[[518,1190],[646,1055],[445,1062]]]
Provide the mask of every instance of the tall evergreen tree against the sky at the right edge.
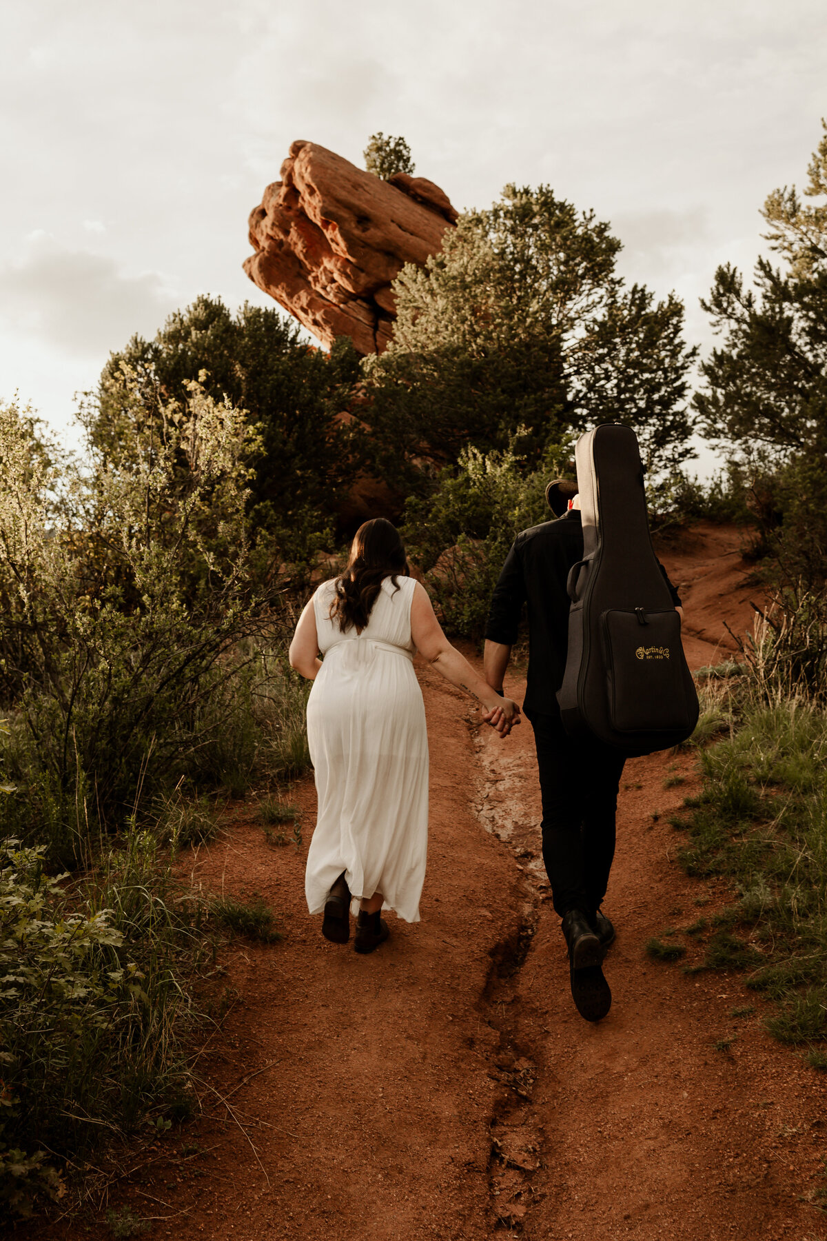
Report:
[[[827,194],[827,133],[806,197]],[[827,206],[774,190],[763,216],[782,267],[759,258],[754,287],[719,267],[703,304],[723,345],[701,366],[704,433],[734,443],[753,475],[756,550],[786,578],[827,576]]]

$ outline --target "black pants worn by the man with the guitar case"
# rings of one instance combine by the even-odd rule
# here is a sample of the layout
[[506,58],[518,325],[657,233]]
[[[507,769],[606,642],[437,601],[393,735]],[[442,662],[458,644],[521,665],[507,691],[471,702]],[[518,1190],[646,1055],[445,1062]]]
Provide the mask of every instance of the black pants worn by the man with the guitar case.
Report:
[[594,912],[615,855],[617,788],[625,758],[600,741],[575,741],[559,715],[529,716],[543,795],[543,861],[555,911]]

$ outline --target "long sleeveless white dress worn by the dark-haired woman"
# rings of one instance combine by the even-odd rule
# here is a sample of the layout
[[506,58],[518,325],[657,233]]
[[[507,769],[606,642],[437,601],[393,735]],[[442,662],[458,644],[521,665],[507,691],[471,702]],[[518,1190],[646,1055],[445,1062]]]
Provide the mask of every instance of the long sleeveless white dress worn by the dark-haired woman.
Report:
[[305,895],[321,913],[345,872],[353,896],[419,921],[428,846],[428,733],[413,668],[415,582],[382,582],[367,627],[345,633],[330,619],[334,582],[312,597],[322,666],[307,700],[307,741],[319,810],[307,850]]

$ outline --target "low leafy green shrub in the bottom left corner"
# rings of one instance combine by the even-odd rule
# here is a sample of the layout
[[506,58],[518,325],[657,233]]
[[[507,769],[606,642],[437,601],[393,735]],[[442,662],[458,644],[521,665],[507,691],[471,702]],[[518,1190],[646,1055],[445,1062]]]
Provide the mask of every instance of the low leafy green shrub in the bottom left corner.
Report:
[[53,1154],[134,1128],[186,1081],[180,974],[198,939],[151,838],[67,880],[45,846],[0,845],[0,1201],[19,1214],[58,1191]]

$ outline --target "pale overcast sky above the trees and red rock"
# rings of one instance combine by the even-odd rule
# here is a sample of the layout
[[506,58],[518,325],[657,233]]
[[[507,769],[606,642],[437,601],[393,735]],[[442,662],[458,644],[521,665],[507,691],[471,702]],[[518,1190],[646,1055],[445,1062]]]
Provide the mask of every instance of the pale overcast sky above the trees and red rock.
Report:
[[[551,184],[621,272],[687,305],[751,268],[827,114],[825,0],[5,0],[0,398],[68,428],[110,350],[247,279],[247,216],[296,138],[378,129],[459,208]],[[708,454],[702,473],[709,468]]]

